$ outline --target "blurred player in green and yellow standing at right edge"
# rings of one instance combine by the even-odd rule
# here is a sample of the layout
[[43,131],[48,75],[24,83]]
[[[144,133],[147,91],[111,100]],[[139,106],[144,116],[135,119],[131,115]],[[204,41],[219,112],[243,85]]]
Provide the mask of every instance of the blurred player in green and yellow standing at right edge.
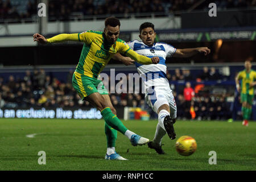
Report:
[[[251,61],[245,61],[245,69],[236,76],[236,88],[241,92],[243,126],[248,126],[251,117],[251,108],[254,98],[254,85],[256,85],[256,72],[251,69]],[[241,84],[240,84],[241,80]]]

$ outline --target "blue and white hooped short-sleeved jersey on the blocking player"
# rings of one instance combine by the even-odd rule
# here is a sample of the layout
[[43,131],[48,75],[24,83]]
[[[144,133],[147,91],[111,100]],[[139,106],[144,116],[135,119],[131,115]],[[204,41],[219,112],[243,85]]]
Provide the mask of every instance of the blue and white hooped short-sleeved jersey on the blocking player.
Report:
[[129,47],[139,55],[147,57],[159,57],[158,64],[143,65],[135,62],[139,76],[142,77],[145,89],[150,86],[170,86],[166,76],[166,57],[172,57],[176,48],[166,43],[155,43],[152,47],[147,46],[143,42],[134,40],[128,43]]

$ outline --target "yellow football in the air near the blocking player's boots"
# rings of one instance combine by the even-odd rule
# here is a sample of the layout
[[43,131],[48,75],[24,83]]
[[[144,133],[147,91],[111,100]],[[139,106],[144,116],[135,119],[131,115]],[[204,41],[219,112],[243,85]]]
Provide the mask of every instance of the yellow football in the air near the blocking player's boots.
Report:
[[182,136],[175,143],[176,151],[183,156],[189,156],[196,151],[197,144],[193,137]]

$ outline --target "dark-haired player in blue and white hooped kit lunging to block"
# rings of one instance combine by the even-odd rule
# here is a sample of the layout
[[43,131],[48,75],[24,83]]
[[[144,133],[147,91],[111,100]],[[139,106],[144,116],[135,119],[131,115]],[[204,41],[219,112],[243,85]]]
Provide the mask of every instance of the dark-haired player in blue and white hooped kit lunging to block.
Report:
[[[135,63],[139,75],[143,81],[143,93],[147,104],[158,114],[158,125],[156,126],[155,137],[148,143],[148,147],[154,148],[158,154],[164,154],[162,150],[162,138],[167,133],[171,139],[176,138],[174,123],[177,117],[175,98],[170,89],[169,81],[166,77],[166,57],[191,57],[197,53],[208,55],[210,49],[207,47],[176,49],[166,43],[155,43],[155,28],[150,22],[142,23],[139,27],[139,38],[142,42],[134,40],[128,43],[131,49],[140,55],[147,57],[158,56],[158,64],[144,65]],[[115,60],[124,60],[119,53],[113,56]],[[126,61],[126,60],[125,60]],[[122,61],[124,63],[124,61]],[[131,62],[130,62],[131,63]],[[129,64],[128,61],[124,63]],[[146,78],[143,78],[145,77]]]

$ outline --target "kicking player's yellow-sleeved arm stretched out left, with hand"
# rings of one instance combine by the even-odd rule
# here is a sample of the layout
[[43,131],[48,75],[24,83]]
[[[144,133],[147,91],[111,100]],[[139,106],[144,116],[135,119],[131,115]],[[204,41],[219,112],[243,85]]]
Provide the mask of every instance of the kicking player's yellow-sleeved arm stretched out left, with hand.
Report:
[[46,39],[46,38],[44,38],[43,35],[36,33],[33,35],[33,38],[34,38],[34,41],[37,41],[42,44],[65,42],[68,40],[80,41],[79,34],[59,34],[59,35],[53,36],[52,38]]

